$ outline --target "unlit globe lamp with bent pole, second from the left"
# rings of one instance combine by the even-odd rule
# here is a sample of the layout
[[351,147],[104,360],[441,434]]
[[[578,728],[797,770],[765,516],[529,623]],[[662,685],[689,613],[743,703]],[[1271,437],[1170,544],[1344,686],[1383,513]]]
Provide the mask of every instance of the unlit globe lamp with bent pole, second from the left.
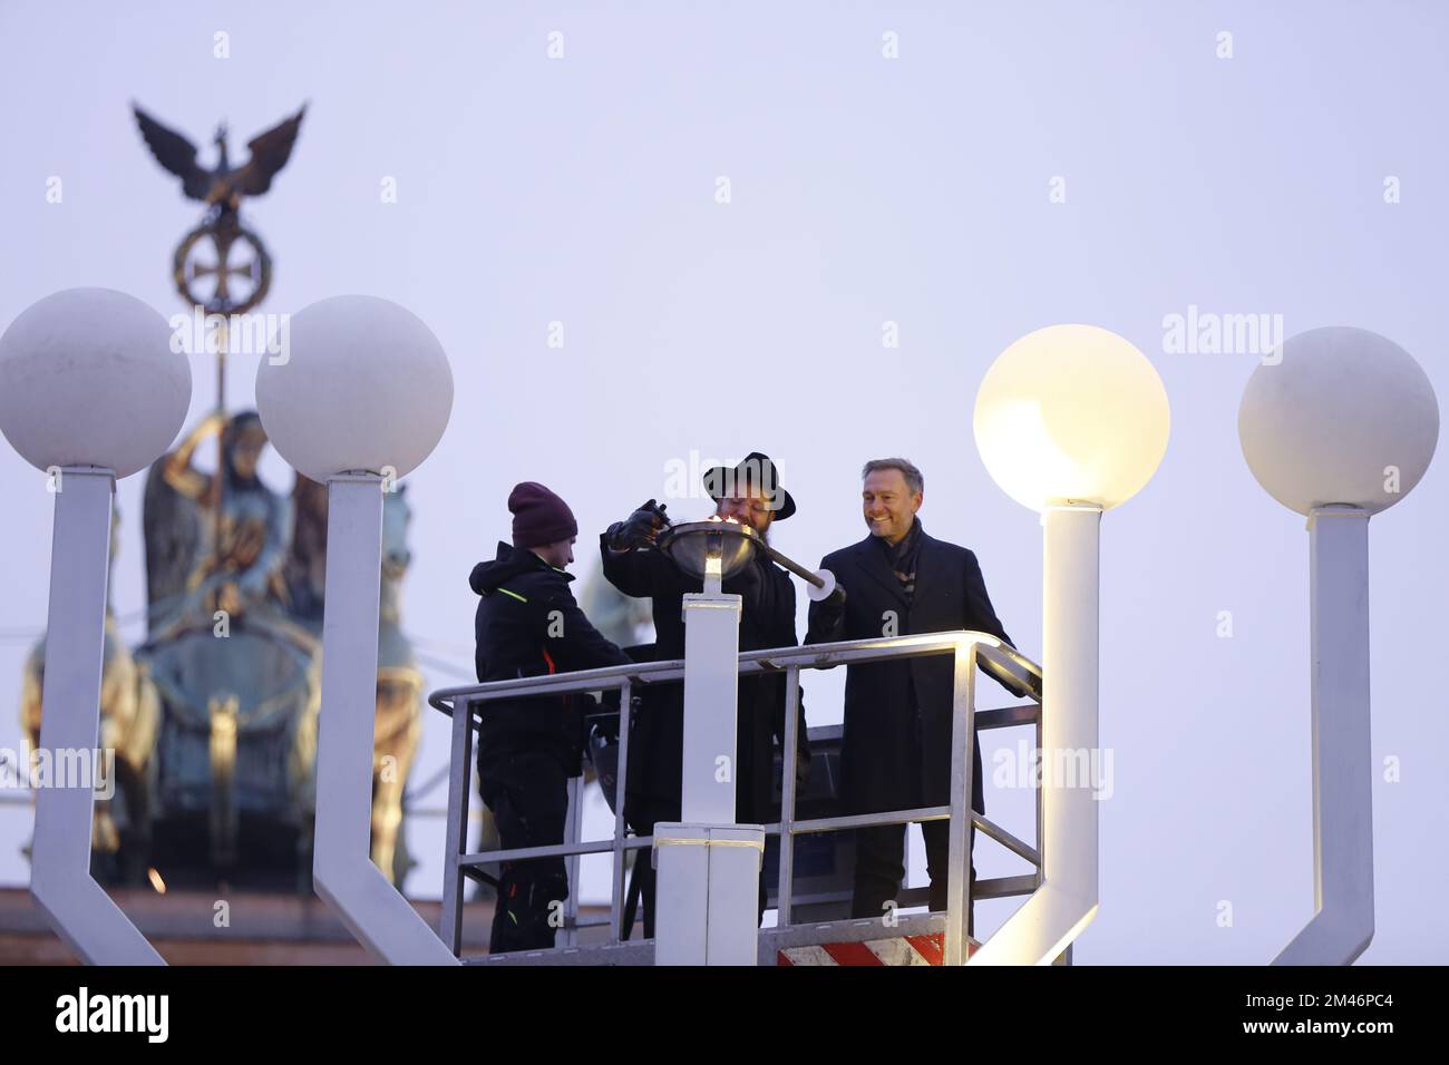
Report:
[[383,961],[454,965],[368,849],[383,493],[442,438],[452,371],[432,330],[388,300],[320,300],[290,329],[290,349],[256,368],[256,409],[277,452],[327,485],[313,881]]

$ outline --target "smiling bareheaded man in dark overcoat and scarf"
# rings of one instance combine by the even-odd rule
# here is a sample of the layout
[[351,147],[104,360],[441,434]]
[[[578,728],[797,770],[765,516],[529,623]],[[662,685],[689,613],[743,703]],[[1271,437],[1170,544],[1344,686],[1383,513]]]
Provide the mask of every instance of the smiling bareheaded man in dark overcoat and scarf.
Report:
[[[906,459],[891,458],[867,462],[861,475],[871,533],[820,562],[846,596],[843,604],[810,604],[806,643],[959,629],[1010,643],[991,607],[977,556],[927,536],[916,517],[924,490],[920,471]],[[952,680],[951,655],[846,667],[840,775],[849,813],[951,801]],[[984,814],[980,742],[972,745],[971,756],[971,804]],[[945,910],[948,822],[923,822],[922,835],[930,909]],[[904,824],[856,830],[853,917],[880,917],[895,900],[906,875],[904,846]]]

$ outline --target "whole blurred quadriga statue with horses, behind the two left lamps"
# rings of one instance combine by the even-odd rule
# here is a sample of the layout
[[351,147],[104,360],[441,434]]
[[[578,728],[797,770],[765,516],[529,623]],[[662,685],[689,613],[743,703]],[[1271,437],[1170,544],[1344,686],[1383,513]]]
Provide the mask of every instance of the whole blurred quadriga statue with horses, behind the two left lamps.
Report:
[[[220,469],[199,469],[217,433]],[[168,885],[310,890],[327,494],[300,474],[290,498],[268,488],[265,446],[255,413],[213,414],[148,474],[148,638],[132,655],[106,622],[101,748],[116,752],[116,793],[97,801],[94,851],[107,880],[143,882],[155,865]],[[372,859],[397,884],[423,730],[423,677],[400,620],[410,519],[406,487],[388,493]],[[43,661],[42,640],[20,700],[32,748]]]

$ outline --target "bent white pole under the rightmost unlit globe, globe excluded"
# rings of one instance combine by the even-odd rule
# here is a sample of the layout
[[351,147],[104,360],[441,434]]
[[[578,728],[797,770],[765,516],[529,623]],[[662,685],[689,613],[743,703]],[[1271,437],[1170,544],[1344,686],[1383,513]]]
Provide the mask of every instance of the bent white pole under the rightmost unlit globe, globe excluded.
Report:
[[1274,965],[1349,965],[1374,939],[1368,519],[1308,513],[1314,916]]

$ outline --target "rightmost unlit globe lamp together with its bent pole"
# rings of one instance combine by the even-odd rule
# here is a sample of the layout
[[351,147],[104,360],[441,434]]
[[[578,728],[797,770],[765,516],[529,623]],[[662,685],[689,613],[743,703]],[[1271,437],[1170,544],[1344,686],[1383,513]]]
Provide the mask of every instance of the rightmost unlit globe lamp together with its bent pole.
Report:
[[1285,341],[1237,413],[1258,483],[1308,519],[1316,913],[1275,965],[1348,965],[1374,937],[1368,522],[1407,496],[1439,442],[1414,358],[1366,329]]

